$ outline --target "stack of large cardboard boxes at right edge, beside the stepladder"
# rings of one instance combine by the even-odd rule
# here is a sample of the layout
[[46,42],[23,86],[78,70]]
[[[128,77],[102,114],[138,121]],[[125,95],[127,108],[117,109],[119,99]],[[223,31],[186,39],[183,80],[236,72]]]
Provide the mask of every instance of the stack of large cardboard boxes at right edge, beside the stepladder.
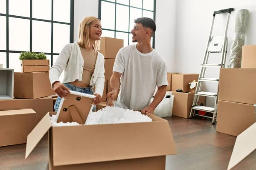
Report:
[[242,48],[241,68],[221,68],[217,132],[238,136],[256,120],[256,45]]

